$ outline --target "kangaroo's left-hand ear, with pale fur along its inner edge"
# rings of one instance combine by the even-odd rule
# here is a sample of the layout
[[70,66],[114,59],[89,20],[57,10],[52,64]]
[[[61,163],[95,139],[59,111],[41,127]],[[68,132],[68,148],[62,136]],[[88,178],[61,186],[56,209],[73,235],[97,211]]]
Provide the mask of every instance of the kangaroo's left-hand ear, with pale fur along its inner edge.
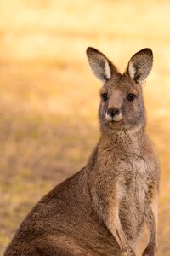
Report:
[[99,50],[88,47],[87,55],[94,75],[101,81],[106,82],[117,73],[116,67]]

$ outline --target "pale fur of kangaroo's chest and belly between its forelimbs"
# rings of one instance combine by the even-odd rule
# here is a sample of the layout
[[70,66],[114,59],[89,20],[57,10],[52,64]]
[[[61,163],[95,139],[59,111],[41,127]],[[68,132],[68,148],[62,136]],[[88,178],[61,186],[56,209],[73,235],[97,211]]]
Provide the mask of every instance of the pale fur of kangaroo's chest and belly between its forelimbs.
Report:
[[[149,187],[150,166],[142,157],[122,162],[122,173],[117,179],[119,214],[123,230],[137,237],[144,224],[146,195]],[[130,238],[130,235],[129,235]]]

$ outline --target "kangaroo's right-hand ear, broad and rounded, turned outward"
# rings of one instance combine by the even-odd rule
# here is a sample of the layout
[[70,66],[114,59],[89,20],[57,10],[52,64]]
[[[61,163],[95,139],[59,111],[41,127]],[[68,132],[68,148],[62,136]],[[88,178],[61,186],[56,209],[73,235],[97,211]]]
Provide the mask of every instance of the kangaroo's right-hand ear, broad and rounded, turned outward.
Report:
[[149,75],[153,64],[153,53],[149,48],[141,49],[128,62],[127,73],[140,84]]

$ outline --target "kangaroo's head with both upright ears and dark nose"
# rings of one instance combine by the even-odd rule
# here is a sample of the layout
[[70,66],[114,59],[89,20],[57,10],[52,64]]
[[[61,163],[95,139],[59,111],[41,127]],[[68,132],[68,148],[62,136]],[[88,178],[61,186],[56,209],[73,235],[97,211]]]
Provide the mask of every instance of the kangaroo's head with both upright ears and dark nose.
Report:
[[89,47],[87,55],[94,75],[103,82],[99,105],[102,130],[136,130],[144,125],[142,84],[152,67],[151,49],[142,49],[133,55],[123,74],[97,49]]

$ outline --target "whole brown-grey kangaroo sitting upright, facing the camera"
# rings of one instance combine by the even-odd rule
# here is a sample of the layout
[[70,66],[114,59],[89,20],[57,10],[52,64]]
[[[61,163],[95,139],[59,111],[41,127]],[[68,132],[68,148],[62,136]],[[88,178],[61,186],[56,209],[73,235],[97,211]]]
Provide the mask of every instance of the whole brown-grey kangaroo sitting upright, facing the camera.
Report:
[[144,223],[143,256],[156,256],[160,167],[145,132],[142,84],[151,49],[137,52],[120,73],[99,50],[87,49],[100,90],[101,137],[88,163],[33,207],[5,256],[135,256]]

